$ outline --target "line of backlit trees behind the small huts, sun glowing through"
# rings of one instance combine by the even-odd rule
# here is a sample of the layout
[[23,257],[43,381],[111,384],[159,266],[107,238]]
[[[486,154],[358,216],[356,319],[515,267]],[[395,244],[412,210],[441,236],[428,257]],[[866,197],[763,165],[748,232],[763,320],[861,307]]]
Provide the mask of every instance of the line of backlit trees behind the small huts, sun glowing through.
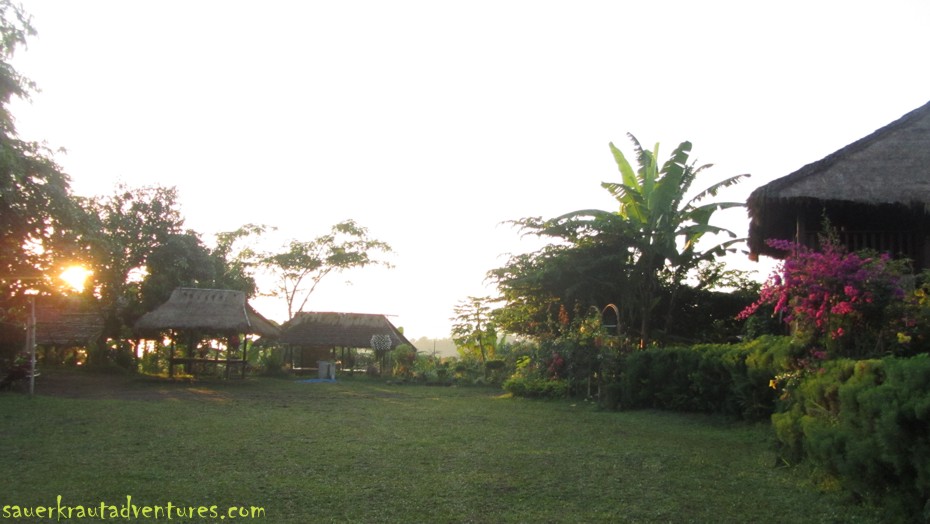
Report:
[[[104,363],[129,351],[135,321],[178,287],[274,295],[293,318],[328,275],[390,265],[383,255],[391,246],[351,219],[315,238],[259,251],[254,241],[270,226],[246,224],[206,245],[199,232],[185,228],[174,187],[118,184],[107,195],[73,194],[54,152],[20,138],[10,113],[11,99],[28,99],[36,89],[9,62],[36,31],[9,0],[0,1],[0,35],[0,326],[23,325],[28,293],[54,301],[65,294],[55,275],[83,266],[90,281],[81,298],[103,320],[88,359]],[[272,275],[271,289],[259,288],[259,271]],[[0,339],[0,360],[21,347],[15,337]]]

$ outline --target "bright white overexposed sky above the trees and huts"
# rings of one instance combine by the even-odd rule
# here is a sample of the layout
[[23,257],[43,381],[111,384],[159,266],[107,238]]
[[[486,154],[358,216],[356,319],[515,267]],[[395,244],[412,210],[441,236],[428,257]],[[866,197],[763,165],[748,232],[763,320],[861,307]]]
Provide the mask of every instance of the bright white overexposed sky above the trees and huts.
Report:
[[[20,136],[64,148],[73,193],[178,189],[211,243],[267,249],[354,219],[394,266],[332,275],[307,310],[449,335],[489,270],[533,250],[507,221],[616,210],[608,144],[751,177],[745,201],[930,101],[930,2],[28,0]],[[716,225],[748,232],[745,210]],[[728,263],[770,271],[745,255]],[[270,289],[270,283],[266,283]],[[280,300],[256,309],[283,321]]]

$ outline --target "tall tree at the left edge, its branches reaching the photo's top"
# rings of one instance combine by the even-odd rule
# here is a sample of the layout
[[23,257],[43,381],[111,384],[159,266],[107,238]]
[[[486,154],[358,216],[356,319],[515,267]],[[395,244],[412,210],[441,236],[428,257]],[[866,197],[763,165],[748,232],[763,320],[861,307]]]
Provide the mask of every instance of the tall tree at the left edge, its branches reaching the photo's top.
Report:
[[[9,103],[28,99],[35,85],[9,59],[36,34],[30,17],[0,1],[0,276],[40,277],[66,258],[81,210],[70,196],[70,181],[43,144],[19,138]],[[30,284],[30,287],[34,283]],[[23,287],[4,278],[2,295]]]

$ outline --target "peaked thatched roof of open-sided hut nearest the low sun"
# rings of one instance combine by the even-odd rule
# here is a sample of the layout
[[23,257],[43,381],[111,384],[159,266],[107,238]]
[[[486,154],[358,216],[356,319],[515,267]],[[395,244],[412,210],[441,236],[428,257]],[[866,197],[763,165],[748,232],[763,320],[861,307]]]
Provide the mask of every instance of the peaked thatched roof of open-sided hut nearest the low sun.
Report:
[[167,302],[135,325],[140,332],[196,330],[276,336],[278,327],[252,309],[245,293],[229,289],[178,288]]

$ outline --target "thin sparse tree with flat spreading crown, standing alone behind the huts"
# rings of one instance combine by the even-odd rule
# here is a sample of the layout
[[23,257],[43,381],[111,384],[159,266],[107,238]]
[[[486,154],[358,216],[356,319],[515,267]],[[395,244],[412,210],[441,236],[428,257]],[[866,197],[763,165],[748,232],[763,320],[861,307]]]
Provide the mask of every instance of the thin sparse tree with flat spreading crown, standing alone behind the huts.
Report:
[[368,237],[368,230],[354,220],[340,222],[313,240],[291,240],[278,253],[259,258],[259,265],[277,278],[276,291],[287,303],[288,319],[303,311],[317,285],[334,272],[373,264],[391,267],[374,257],[390,253],[391,246]]

